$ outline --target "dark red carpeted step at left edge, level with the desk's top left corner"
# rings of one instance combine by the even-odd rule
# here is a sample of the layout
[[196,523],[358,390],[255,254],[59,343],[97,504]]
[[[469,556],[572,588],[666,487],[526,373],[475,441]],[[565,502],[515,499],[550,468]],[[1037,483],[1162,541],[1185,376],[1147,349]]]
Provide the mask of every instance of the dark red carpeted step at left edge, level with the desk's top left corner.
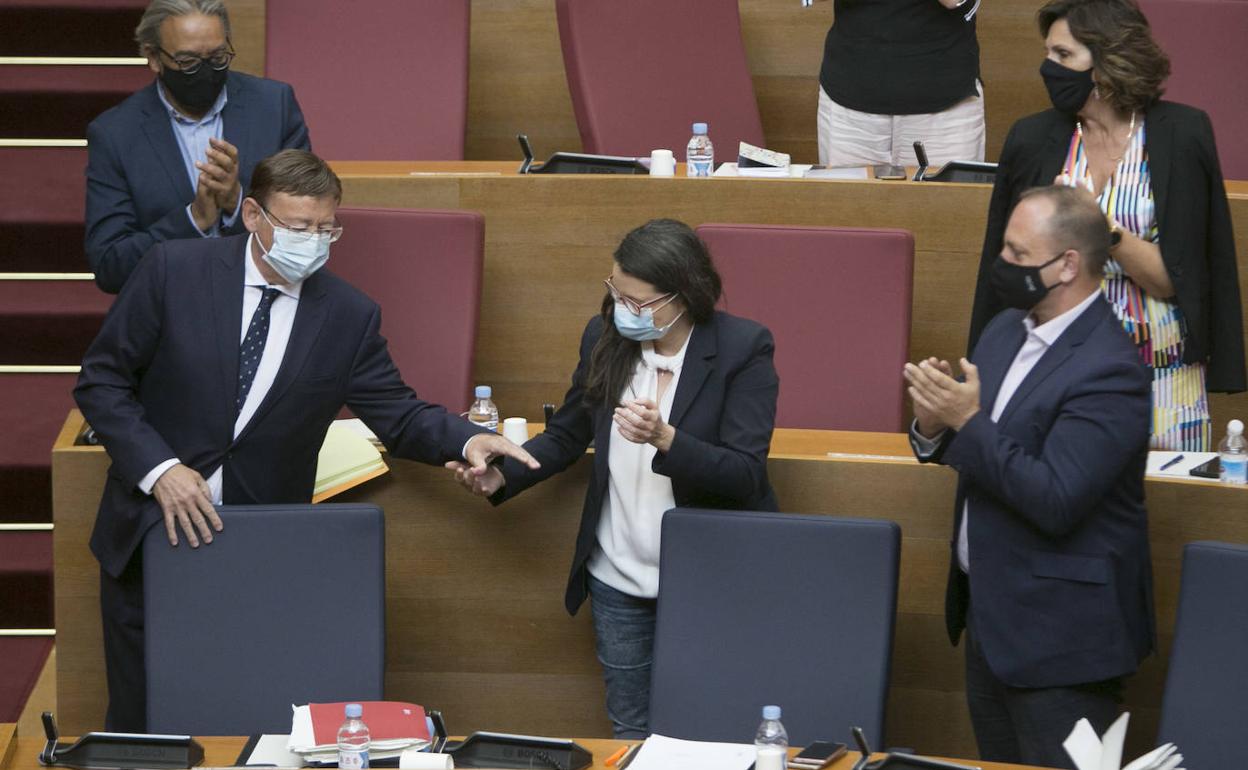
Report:
[[51,522],[52,444],[77,374],[0,373],[0,522]]

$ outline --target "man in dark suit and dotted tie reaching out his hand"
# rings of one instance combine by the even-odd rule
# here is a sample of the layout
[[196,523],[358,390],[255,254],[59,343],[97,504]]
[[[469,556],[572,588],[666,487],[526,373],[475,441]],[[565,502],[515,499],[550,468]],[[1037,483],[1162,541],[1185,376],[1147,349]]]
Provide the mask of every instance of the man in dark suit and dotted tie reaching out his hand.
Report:
[[417,398],[379,334],[381,309],[319,270],[342,235],[342,186],[311,152],[256,166],[251,235],[166,241],[144,257],[82,361],[74,392],[112,467],[91,534],[109,675],[110,730],[146,723],[140,544],[222,535],[215,504],[306,503],[317,452],[343,404],[396,457],[508,454],[502,436]]

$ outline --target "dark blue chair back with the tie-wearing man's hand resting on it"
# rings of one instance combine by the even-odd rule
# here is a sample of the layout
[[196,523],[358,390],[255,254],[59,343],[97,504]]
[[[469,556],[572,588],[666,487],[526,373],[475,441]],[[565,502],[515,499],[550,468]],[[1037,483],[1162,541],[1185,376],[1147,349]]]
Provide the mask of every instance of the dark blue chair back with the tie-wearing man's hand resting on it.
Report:
[[381,508],[220,508],[211,545],[144,540],[147,729],[290,733],[291,704],[381,700]]

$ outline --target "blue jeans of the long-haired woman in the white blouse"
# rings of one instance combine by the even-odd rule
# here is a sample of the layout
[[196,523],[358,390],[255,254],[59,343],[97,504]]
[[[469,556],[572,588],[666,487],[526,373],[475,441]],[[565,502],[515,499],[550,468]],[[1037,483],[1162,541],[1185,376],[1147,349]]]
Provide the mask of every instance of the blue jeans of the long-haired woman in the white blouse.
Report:
[[615,590],[593,575],[589,602],[612,730],[615,738],[645,738],[650,734],[650,664],[658,603]]

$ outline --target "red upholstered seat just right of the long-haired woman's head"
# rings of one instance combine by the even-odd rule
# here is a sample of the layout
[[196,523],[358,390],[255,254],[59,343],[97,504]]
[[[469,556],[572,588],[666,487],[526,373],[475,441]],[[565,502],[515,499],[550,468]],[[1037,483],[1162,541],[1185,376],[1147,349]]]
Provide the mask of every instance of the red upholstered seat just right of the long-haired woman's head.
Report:
[[902,428],[914,236],[904,230],[703,225],[723,308],[776,341],[776,427]]

